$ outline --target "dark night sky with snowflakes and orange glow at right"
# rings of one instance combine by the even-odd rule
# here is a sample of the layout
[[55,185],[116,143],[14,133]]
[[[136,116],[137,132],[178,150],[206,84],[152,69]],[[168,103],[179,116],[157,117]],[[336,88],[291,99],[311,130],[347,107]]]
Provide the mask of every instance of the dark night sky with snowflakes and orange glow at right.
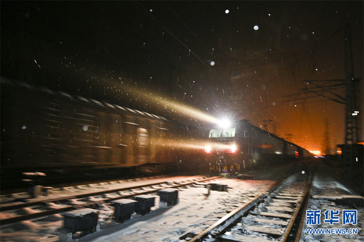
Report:
[[273,120],[268,131],[309,150],[322,150],[325,118],[331,148],[344,142],[345,107],[283,96],[307,88],[303,80],[345,78],[346,23],[363,79],[363,1],[0,4],[1,76],[171,118],[132,87],[216,117]]

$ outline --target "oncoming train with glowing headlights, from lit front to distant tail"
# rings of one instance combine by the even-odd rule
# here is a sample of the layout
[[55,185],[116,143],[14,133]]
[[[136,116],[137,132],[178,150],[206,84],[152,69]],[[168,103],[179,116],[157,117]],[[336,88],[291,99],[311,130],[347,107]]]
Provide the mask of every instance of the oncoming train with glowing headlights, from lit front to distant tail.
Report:
[[269,133],[247,120],[211,129],[205,152],[212,170],[242,171],[308,157],[309,151]]

